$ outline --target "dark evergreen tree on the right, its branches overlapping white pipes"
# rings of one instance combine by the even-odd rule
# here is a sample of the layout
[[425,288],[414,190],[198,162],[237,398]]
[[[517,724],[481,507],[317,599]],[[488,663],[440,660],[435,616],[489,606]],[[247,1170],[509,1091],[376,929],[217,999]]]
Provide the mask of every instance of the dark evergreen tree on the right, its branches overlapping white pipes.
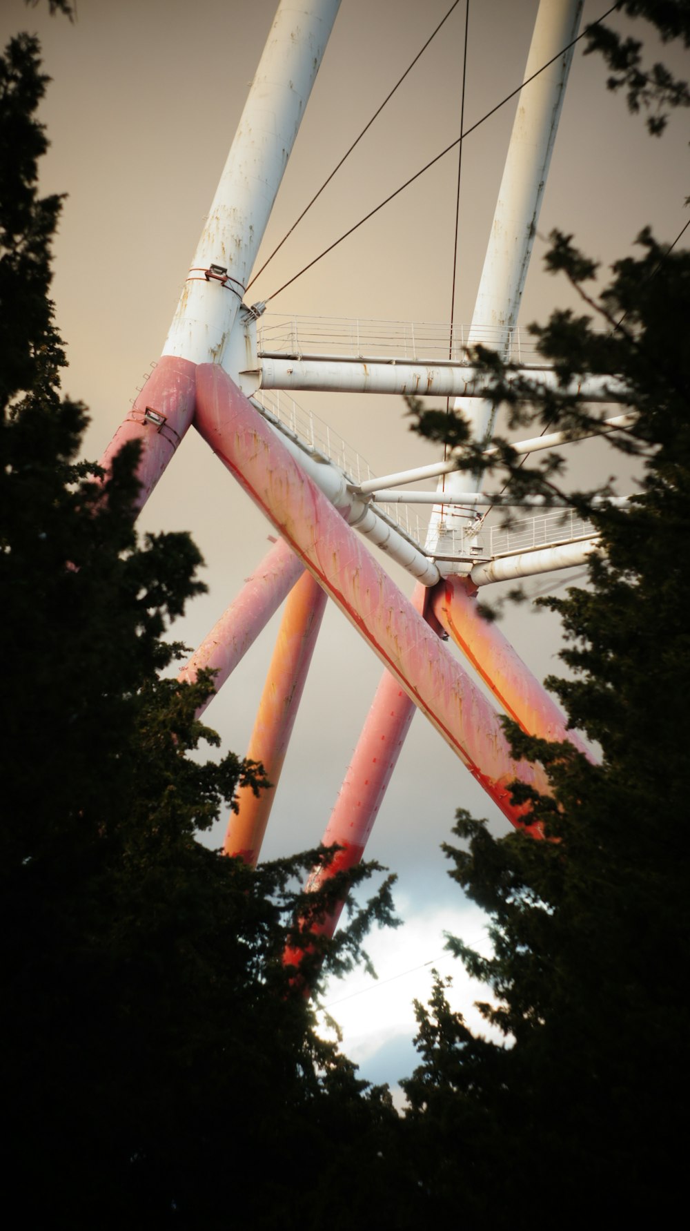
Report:
[[[534,329],[561,391],[508,389],[485,352],[493,395],[509,426],[533,425],[526,435],[547,423],[577,432],[595,416],[566,395],[571,377],[621,375],[635,420],[609,439],[637,459],[640,483],[622,510],[597,502],[605,492],[562,492],[558,457],[519,468],[507,441],[499,451],[513,491],[567,495],[604,551],[590,558],[587,588],[544,599],[562,618],[572,672],[547,684],[600,763],[507,723],[513,752],[547,768],[552,795],[514,790],[547,841],[494,840],[460,812],[462,844],[445,847],[451,876],[490,915],[493,956],[449,944],[487,985],[482,1012],[506,1041],[474,1037],[437,980],[430,1004],[417,1006],[421,1064],[403,1082],[430,1210],[466,1203],[477,1217],[491,1210],[494,1226],[540,1225],[561,1209],[571,1220],[657,1221],[684,1198],[690,254],[644,230],[600,293],[572,236],[555,233],[547,260],[583,303],[581,315]],[[442,417],[422,414],[419,427],[438,438]],[[464,425],[451,431],[466,447]],[[486,459],[466,449],[466,464]]]

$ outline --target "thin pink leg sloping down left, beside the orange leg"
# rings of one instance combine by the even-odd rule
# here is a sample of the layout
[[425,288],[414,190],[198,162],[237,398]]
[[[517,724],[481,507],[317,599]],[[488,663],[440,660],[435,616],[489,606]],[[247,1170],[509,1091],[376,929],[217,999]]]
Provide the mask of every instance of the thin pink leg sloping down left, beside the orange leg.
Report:
[[[283,539],[279,539],[258,569],[247,577],[237,597],[214,624],[198,650],[184,664],[178,680],[193,682],[199,671],[210,667],[218,672],[215,676],[215,692],[218,692],[278,611],[303,571],[301,560]],[[209,697],[199,708],[199,714],[203,714],[212,700],[213,697]]]

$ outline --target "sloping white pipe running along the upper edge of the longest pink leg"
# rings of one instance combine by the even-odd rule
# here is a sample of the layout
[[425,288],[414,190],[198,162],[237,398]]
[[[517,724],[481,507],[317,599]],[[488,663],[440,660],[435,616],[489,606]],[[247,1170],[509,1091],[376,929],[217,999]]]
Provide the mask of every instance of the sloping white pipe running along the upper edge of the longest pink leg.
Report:
[[[255,403],[253,405],[257,404]],[[390,526],[368,502],[359,500],[349,490],[346,476],[337,465],[332,462],[319,462],[316,458],[310,457],[290,436],[280,431],[279,425],[272,421],[269,414],[266,414],[263,410],[262,414],[273,431],[280,437],[285,448],[299,462],[303,470],[306,471],[310,479],[314,479],[323,495],[343,515],[348,526],[352,526],[364,538],[375,543],[381,551],[390,555],[391,560],[395,560],[396,564],[402,565],[422,585],[435,586],[437,581],[440,580],[440,572],[429,556],[424,555],[405,534],[401,534],[394,526]]]

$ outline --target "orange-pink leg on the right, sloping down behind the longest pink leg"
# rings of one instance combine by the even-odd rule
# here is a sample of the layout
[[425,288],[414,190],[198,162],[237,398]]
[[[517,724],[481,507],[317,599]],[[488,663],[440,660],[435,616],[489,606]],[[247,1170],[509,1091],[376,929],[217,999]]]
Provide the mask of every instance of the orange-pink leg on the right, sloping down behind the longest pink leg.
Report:
[[565,715],[544,684],[533,676],[496,623],[477,611],[476,586],[467,577],[446,577],[430,592],[432,609],[443,628],[486,681],[503,709],[529,735],[569,740],[589,756],[584,744],[566,728]]

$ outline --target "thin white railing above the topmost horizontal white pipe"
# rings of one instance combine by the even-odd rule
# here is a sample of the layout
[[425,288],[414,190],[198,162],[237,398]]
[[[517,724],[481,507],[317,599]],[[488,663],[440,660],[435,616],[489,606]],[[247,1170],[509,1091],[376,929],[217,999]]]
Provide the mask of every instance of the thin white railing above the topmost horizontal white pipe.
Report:
[[[474,326],[471,345],[501,351],[506,361],[536,363],[534,339],[515,329]],[[405,320],[359,320],[346,316],[280,316],[266,313],[257,323],[262,355],[331,355],[352,359],[467,362],[470,326]]]

